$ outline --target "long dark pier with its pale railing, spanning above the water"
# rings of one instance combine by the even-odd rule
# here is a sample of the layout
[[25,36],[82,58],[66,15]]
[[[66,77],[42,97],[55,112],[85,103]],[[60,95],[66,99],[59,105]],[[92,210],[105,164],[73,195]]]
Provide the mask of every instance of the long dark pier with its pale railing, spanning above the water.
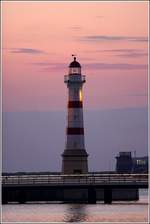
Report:
[[19,175],[2,177],[2,203],[138,200],[148,174]]

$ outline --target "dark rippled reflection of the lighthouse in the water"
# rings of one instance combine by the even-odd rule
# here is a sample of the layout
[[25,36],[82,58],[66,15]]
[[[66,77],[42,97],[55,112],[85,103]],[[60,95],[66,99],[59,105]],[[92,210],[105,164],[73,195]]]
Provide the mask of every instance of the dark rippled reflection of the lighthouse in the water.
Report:
[[66,207],[65,222],[83,222],[86,221],[86,205],[85,204],[68,204]]

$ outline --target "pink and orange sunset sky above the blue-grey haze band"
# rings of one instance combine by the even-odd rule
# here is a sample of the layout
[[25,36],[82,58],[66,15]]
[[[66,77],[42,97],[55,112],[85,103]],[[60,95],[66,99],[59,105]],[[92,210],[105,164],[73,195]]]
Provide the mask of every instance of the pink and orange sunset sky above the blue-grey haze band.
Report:
[[85,109],[147,106],[148,2],[3,2],[3,110],[65,110],[71,54]]

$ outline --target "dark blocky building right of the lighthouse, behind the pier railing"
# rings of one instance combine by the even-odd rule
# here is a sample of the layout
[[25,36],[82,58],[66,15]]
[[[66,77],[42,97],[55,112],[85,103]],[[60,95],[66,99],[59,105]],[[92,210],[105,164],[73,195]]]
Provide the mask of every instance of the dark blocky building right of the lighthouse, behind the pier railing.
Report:
[[148,156],[132,157],[131,152],[119,152],[116,159],[118,173],[148,173]]

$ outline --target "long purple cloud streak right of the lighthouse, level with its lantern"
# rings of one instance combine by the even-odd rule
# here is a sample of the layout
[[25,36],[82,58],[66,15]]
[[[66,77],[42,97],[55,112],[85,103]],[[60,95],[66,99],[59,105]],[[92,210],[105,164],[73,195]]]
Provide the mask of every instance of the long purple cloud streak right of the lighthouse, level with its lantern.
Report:
[[91,63],[91,64],[85,64],[85,68],[87,69],[106,69],[106,70],[141,70],[141,69],[147,69],[148,65],[146,64],[125,64],[125,63],[116,63],[116,64],[110,64],[110,63]]

